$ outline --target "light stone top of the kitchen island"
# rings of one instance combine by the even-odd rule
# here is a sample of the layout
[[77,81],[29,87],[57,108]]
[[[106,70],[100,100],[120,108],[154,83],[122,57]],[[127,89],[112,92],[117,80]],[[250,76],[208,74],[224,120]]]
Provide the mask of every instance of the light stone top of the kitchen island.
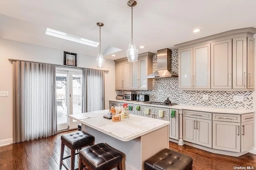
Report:
[[[132,139],[135,139],[137,137],[141,137],[142,135],[145,135],[147,133],[150,133],[152,131],[155,131],[157,129],[160,129],[160,128],[170,124],[170,121],[152,119],[152,118],[149,118],[149,117],[133,115],[133,114],[130,114],[129,119],[124,119],[124,120],[121,120],[121,121],[112,121],[112,119],[103,118],[103,115],[106,114],[106,113],[100,113],[99,114],[99,113],[96,113],[96,112],[97,111],[94,111],[94,113],[88,112],[88,113],[74,114],[74,115],[69,115],[69,117],[78,121],[79,123],[82,123],[82,124],[87,125],[87,126],[93,128],[93,129],[96,129],[96,130],[98,130],[102,133],[105,133],[106,135],[109,135],[111,137],[119,139],[120,141],[130,141]],[[108,110],[106,110],[106,112],[108,112]],[[77,117],[83,117],[86,114],[89,114],[89,115],[94,114],[96,117],[90,117],[90,118],[81,119],[81,120],[77,118]],[[146,127],[146,126],[143,126],[143,125],[138,125],[138,122],[144,122],[144,123],[151,122],[151,123],[155,123],[156,126],[155,127]],[[120,137],[118,135],[115,135],[113,133],[105,131],[104,129],[101,129],[101,127],[103,127],[103,126],[112,125],[112,124],[115,124],[115,123],[123,123],[123,124],[126,124],[127,126],[130,126],[132,128],[143,129],[143,131],[140,131],[140,132],[135,133],[133,135],[129,135],[127,137]],[[116,129],[116,130],[118,130],[118,129]]]

